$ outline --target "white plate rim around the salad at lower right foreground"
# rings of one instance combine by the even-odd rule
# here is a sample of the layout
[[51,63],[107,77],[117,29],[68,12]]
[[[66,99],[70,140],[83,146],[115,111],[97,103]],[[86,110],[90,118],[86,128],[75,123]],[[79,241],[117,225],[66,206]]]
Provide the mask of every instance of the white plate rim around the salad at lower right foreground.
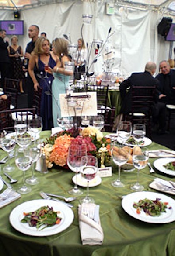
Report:
[[[143,210],[141,210],[140,214],[137,214],[137,209],[133,208],[133,204],[137,203],[140,199],[145,198],[151,200],[156,200],[156,198],[159,198],[161,202],[168,202],[167,206],[172,208],[167,208],[166,212],[162,212],[160,216],[147,215]],[[163,224],[175,221],[175,200],[164,194],[149,191],[133,192],[123,198],[122,207],[124,211],[133,218],[139,219],[147,223]]]

